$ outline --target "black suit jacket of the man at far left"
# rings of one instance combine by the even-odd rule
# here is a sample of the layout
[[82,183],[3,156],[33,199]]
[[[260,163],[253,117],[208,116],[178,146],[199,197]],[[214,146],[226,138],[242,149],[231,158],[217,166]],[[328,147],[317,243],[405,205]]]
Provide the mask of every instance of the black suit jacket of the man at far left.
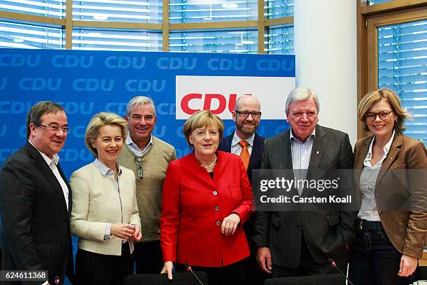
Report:
[[0,170],[1,270],[48,270],[50,284],[54,284],[56,276],[63,279],[67,271],[68,279],[73,281],[70,235],[73,201],[59,164],[58,169],[69,189],[68,211],[57,178],[29,142],[3,164]]

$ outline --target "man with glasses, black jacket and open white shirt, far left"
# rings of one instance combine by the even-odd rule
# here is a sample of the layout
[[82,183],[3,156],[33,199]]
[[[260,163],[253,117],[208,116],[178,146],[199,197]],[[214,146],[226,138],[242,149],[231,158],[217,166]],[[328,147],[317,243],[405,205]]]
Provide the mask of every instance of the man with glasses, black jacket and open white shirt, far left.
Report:
[[66,275],[74,279],[73,203],[58,156],[69,132],[61,105],[33,105],[27,115],[27,144],[0,170],[1,270],[47,271],[40,272],[45,276],[40,284],[55,284],[56,279],[63,284]]

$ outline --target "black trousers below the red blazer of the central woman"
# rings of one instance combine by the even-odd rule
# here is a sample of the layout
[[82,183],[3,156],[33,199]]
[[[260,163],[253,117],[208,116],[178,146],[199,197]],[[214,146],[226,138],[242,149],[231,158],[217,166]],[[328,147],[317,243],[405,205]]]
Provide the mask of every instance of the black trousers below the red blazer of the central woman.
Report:
[[[186,271],[181,264],[175,266],[177,272]],[[191,266],[191,269],[206,272],[209,285],[244,285],[244,261],[223,267]]]

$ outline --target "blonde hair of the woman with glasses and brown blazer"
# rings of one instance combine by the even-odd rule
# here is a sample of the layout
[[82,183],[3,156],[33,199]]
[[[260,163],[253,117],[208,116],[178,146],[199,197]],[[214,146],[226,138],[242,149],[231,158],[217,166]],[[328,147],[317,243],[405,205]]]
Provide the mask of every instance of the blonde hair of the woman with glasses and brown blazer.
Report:
[[409,112],[407,112],[406,108],[403,108],[402,103],[400,103],[399,96],[388,88],[375,89],[371,92],[368,92],[368,94],[366,94],[359,102],[357,116],[362,123],[364,131],[369,131],[368,125],[366,124],[366,113],[370,110],[370,108],[372,108],[373,105],[380,102],[382,99],[385,99],[387,103],[391,105],[392,111],[398,117],[396,123],[394,124],[394,129],[398,133],[402,133],[405,131],[405,119],[412,119],[412,117],[410,116]]

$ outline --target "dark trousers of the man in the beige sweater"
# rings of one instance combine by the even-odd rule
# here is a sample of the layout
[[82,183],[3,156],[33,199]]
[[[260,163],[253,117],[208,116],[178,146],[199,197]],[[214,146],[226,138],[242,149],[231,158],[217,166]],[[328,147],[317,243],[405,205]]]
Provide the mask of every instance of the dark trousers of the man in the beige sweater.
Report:
[[135,242],[135,256],[137,274],[159,274],[163,268],[162,249],[160,240],[153,242]]

